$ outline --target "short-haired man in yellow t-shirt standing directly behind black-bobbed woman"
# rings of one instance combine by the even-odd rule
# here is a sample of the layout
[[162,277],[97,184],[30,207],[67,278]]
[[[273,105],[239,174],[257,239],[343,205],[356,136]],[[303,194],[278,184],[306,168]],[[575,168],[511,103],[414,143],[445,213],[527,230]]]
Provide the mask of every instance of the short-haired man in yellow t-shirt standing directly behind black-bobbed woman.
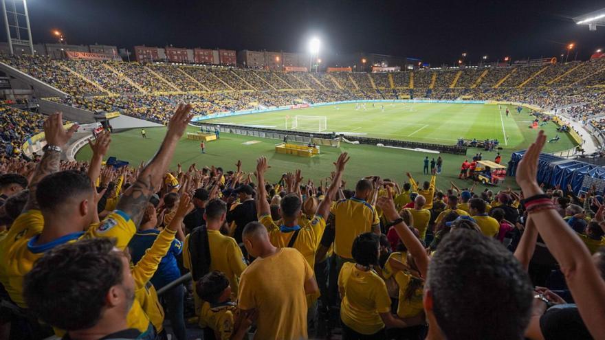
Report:
[[380,234],[380,220],[376,209],[366,202],[372,191],[372,182],[361,179],[355,185],[355,196],[340,200],[331,208],[330,218],[333,218],[336,229],[334,252],[339,256],[337,271],[343,262],[353,259],[351,247],[358,235],[368,231]]

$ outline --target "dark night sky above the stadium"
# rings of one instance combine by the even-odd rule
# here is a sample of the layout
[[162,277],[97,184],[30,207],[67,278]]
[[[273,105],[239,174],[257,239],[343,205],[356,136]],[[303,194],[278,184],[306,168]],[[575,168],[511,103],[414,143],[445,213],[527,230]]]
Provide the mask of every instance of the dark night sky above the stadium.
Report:
[[605,48],[605,27],[589,32],[572,16],[604,1],[187,1],[28,0],[35,42],[118,47],[221,47],[306,52],[311,36],[322,54],[373,52],[432,65],[511,56],[558,56],[571,41],[578,58]]

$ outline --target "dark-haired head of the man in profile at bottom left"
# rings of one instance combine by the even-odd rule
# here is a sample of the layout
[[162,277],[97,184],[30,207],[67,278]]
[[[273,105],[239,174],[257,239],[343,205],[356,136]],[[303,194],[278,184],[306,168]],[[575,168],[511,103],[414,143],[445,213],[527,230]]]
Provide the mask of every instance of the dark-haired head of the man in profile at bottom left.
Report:
[[26,276],[24,295],[35,315],[74,339],[78,334],[143,337],[140,330],[128,330],[135,283],[129,258],[114,240],[83,240],[47,251]]

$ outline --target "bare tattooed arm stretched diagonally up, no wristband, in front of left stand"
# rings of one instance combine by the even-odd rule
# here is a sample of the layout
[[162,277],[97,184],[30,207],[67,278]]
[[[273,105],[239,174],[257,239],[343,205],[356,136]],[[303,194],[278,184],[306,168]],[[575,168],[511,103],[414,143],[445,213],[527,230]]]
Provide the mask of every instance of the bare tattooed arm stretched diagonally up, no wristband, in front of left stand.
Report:
[[145,207],[151,195],[160,188],[164,173],[173,157],[177,143],[189,124],[191,105],[179,104],[177,111],[168,123],[168,131],[162,145],[149,163],[141,170],[139,177],[120,197],[116,209],[128,214],[135,225],[141,223]]

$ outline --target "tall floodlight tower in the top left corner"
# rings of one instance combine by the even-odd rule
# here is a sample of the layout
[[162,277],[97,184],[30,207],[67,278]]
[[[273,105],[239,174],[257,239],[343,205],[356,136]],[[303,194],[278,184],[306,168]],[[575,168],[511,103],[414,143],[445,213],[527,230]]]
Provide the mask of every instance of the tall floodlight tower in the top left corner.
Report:
[[[32,29],[30,27],[30,15],[27,0],[1,0],[4,27],[8,41],[10,55],[14,55],[14,45],[27,45],[34,55],[34,43],[32,41]],[[8,3],[8,5],[6,4]],[[25,25],[25,26],[23,26]]]

